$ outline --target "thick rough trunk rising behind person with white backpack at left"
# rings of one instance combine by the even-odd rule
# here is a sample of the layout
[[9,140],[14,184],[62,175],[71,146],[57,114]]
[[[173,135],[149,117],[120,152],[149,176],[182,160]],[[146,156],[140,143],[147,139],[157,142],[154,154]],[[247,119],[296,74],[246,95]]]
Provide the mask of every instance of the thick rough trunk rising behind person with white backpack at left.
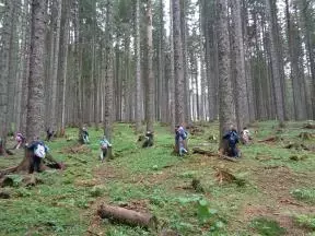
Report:
[[32,1],[32,36],[28,78],[26,138],[39,137],[44,129],[44,61],[46,1]]

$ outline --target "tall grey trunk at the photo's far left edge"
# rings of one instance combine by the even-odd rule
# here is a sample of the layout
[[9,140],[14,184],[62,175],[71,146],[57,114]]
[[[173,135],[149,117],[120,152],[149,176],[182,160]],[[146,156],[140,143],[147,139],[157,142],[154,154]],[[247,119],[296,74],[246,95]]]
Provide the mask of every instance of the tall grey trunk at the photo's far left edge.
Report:
[[1,32],[1,60],[0,60],[0,138],[5,146],[8,134],[8,83],[10,61],[10,39],[13,5],[11,0],[4,1],[3,26]]

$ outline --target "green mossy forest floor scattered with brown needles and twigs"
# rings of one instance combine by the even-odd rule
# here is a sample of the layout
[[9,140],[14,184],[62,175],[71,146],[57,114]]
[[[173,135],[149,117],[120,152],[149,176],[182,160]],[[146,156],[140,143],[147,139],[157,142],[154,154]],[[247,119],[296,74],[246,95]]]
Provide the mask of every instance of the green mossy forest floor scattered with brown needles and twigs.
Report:
[[[66,170],[36,174],[43,184],[28,188],[13,175],[14,186],[0,189],[11,194],[0,199],[0,235],[138,236],[166,229],[174,233],[168,235],[196,236],[315,235],[315,139],[299,138],[315,131],[302,127],[302,122],[289,122],[283,129],[273,121],[255,123],[254,143],[240,146],[243,157],[236,163],[200,154],[175,156],[174,137],[160,125],[154,146],[140,149],[128,123],[115,125],[115,158],[101,163],[102,130],[90,128],[91,144],[77,149],[77,130],[68,129],[72,141],[48,143]],[[218,123],[198,128],[189,135],[189,149],[217,152],[218,143],[209,137],[218,137]],[[277,139],[258,142],[268,137]],[[292,142],[299,145],[284,149]],[[303,150],[301,143],[313,151]],[[1,157],[0,168],[20,163],[22,155],[20,150]],[[236,180],[219,181],[220,170]],[[191,187],[192,179],[200,180],[203,191]],[[96,210],[102,203],[153,213],[158,233],[100,220]]]

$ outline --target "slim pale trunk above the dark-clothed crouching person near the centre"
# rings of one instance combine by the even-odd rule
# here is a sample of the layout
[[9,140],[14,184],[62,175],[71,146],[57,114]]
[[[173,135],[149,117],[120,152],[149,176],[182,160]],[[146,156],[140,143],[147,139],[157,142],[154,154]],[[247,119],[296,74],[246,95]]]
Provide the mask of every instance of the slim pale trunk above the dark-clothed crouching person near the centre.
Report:
[[147,131],[153,131],[154,119],[154,75],[153,75],[153,42],[152,42],[152,0],[147,0],[147,90],[145,119]]

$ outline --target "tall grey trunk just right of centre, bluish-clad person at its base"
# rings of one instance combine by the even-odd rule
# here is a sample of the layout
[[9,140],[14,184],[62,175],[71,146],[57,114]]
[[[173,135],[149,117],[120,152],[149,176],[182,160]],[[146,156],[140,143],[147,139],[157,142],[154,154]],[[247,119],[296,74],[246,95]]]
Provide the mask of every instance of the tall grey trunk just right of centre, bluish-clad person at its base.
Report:
[[185,82],[183,67],[183,44],[180,28],[180,3],[172,0],[173,4],[173,44],[174,44],[174,72],[175,72],[175,122],[185,122]]

